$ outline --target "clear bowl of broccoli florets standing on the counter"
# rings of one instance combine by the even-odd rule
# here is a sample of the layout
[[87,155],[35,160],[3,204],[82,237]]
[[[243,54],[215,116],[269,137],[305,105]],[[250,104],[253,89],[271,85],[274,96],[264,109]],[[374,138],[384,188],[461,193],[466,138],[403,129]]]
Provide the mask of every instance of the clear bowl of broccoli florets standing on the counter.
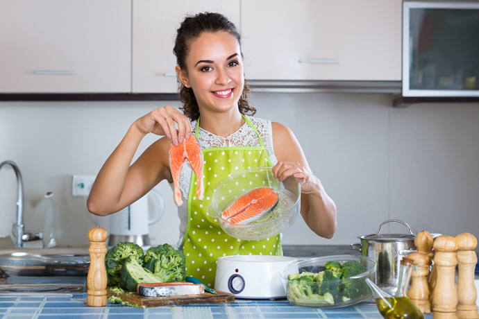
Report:
[[[338,292],[333,296],[332,303],[323,300],[319,294],[321,282],[298,282],[289,280],[288,275],[292,273],[319,273],[325,270],[324,264],[327,261],[339,261],[344,264],[346,261],[358,261],[366,271],[360,275],[339,279],[337,284]],[[362,255],[332,255],[296,261],[280,272],[281,281],[285,287],[287,300],[291,304],[303,307],[315,308],[337,308],[351,304],[357,304],[372,295],[371,289],[366,283],[366,278],[376,282],[376,261],[371,257]]]

